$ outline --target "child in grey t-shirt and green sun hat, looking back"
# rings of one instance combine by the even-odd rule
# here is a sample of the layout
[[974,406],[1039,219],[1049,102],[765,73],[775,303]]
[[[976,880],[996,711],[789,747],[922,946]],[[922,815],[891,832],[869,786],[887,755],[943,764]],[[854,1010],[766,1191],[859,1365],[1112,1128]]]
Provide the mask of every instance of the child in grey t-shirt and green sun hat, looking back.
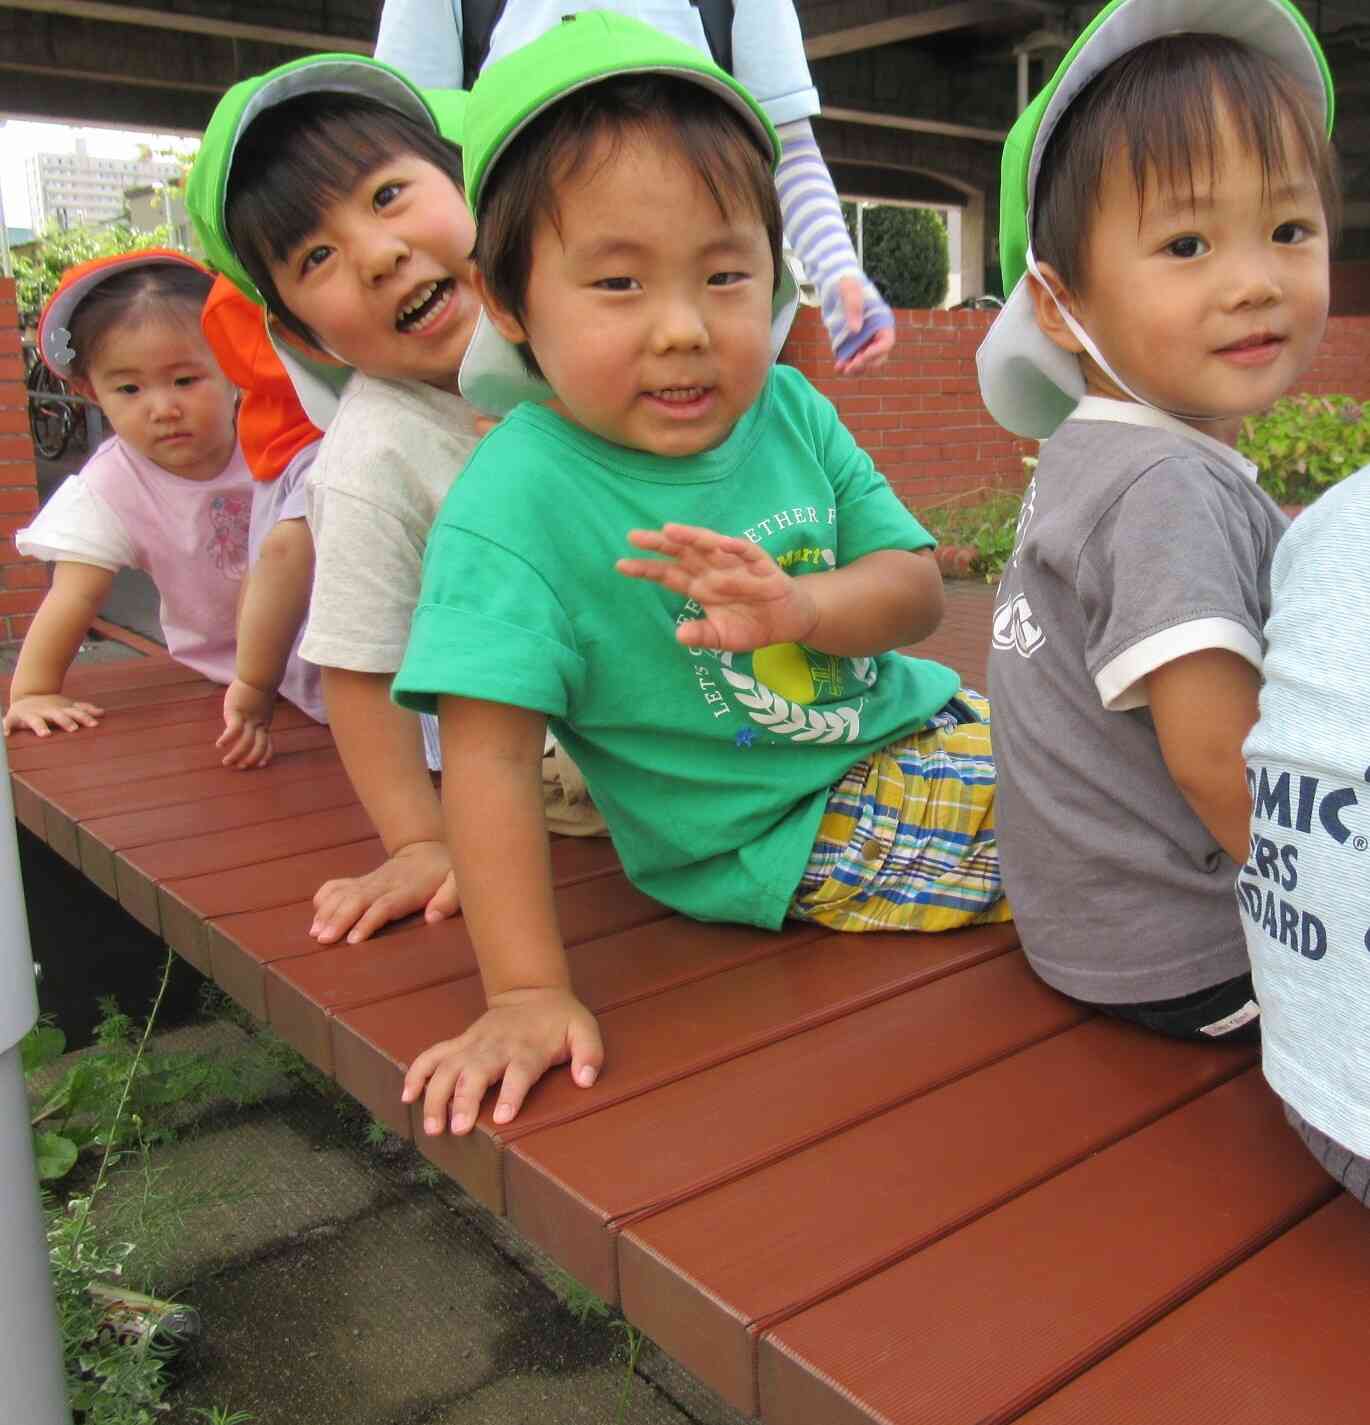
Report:
[[1242,740],[1286,520],[1233,445],[1323,335],[1332,90],[1287,0],[1176,9],[1108,6],[1005,147],[981,389],[1049,439],[995,607],[998,829],[1048,983],[1255,1039]]

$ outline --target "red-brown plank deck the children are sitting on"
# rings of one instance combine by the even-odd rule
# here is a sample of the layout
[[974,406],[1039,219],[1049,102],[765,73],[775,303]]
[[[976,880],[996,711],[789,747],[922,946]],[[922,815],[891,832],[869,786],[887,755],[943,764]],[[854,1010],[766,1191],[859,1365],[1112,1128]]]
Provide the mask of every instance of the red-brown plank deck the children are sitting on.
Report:
[[[984,678],[987,590],[928,646]],[[609,1059],[426,1141],[403,1066],[480,1009],[460,921],[321,949],[311,896],[379,856],[326,730],[217,765],[221,690],[77,673],[97,731],[10,740],[19,819],[378,1119],[770,1425],[1364,1418],[1370,1218],[1250,1050],[1045,989],[1012,926],[780,935],[683,921],[603,841],[553,862]],[[495,828],[498,835],[498,828]],[[1121,948],[1125,952],[1125,948]]]

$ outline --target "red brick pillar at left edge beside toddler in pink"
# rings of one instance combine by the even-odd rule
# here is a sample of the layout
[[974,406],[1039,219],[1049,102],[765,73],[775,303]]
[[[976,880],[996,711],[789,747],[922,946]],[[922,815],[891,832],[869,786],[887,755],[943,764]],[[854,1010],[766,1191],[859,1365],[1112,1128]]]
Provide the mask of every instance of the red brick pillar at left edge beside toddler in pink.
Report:
[[0,278],[0,643],[23,638],[47,589],[47,566],[21,559],[14,549],[14,530],[37,507],[14,281]]

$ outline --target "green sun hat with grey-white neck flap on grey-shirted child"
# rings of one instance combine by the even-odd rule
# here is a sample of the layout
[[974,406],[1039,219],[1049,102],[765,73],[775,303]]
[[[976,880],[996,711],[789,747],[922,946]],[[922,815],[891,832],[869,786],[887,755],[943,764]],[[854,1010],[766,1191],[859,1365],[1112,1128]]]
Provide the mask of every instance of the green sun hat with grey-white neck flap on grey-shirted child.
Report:
[[[1270,56],[1316,101],[1332,133],[1334,95],[1327,60],[1290,0],[1112,0],[1105,6],[1046,87],[1018,115],[1004,144],[999,264],[1009,296],[975,363],[989,415],[1015,435],[1045,439],[1085,395],[1078,358],[1036,325],[1028,292],[1028,276],[1036,269],[1031,234],[1042,152],[1091,80],[1129,50],[1170,34],[1222,34]],[[1072,331],[1108,369],[1078,323]]]

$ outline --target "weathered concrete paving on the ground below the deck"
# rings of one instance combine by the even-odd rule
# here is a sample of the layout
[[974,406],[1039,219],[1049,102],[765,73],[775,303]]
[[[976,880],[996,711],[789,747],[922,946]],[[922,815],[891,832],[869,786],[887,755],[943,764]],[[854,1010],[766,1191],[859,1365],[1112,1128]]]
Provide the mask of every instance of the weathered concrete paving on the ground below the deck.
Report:
[[[254,1059],[261,1039],[208,1020],[153,1049]],[[125,1280],[202,1318],[170,1425],[211,1405],[254,1425],[743,1425],[650,1342],[630,1378],[622,1322],[572,1315],[549,1258],[412,1146],[368,1144],[345,1096],[284,1072],[268,1092],[181,1110],[147,1159],[155,1228],[120,1231],[141,1244]],[[148,1186],[134,1163],[97,1213],[127,1228]]]

